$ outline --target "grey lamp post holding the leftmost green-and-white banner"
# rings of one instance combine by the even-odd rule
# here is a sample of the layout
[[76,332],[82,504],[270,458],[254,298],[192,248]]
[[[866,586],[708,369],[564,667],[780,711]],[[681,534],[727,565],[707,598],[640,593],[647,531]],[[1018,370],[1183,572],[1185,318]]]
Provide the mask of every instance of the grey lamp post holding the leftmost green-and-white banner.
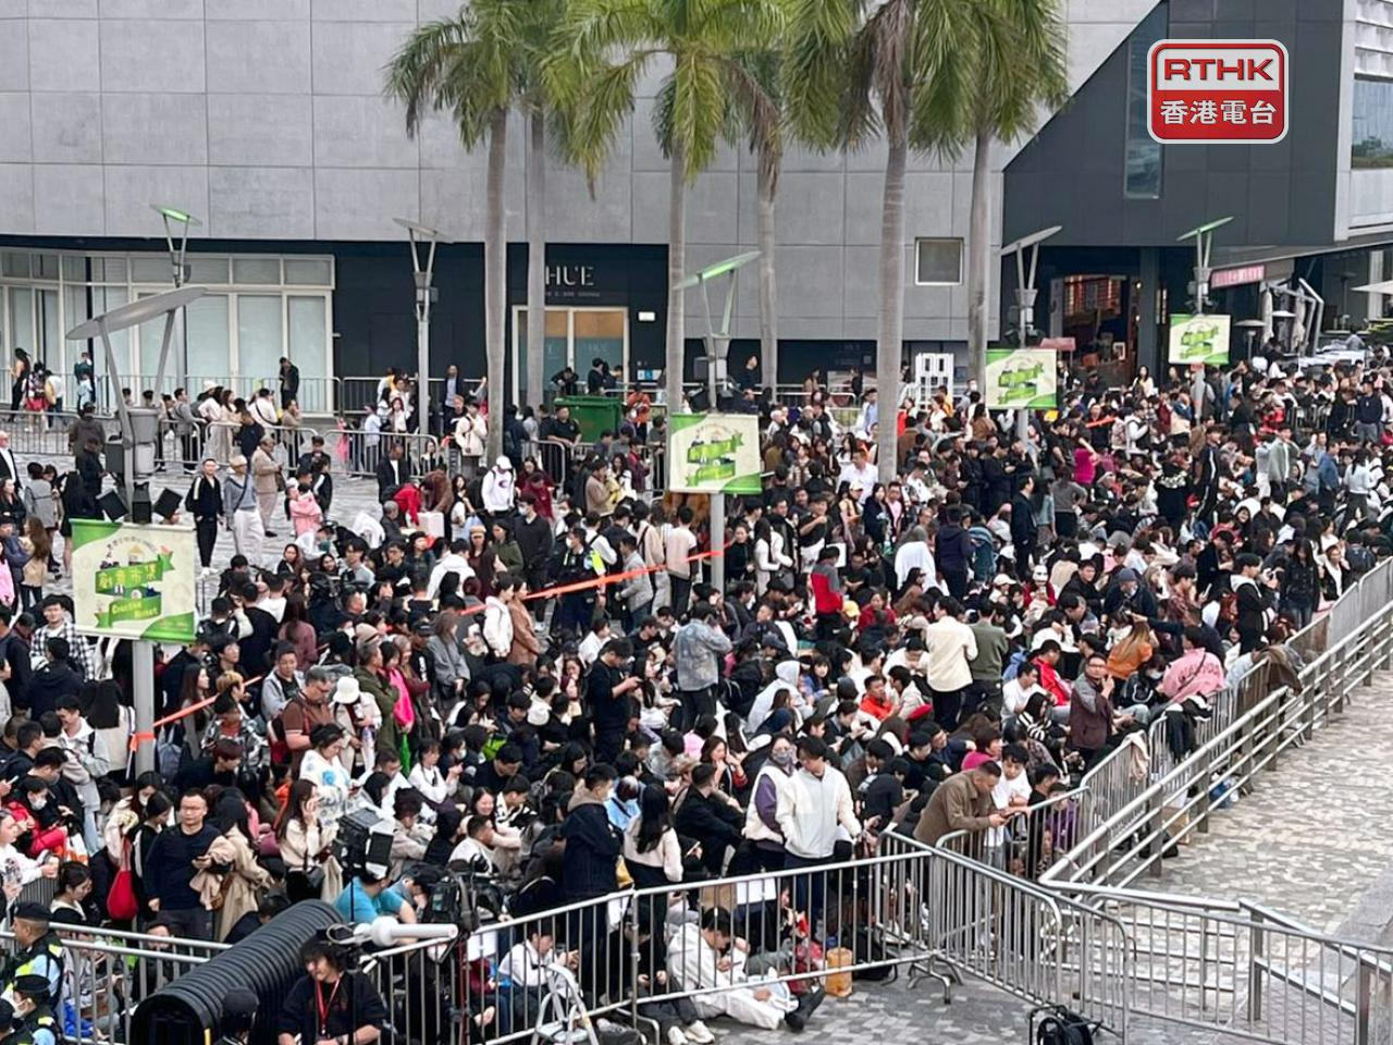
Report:
[[[111,348],[111,334],[132,326],[148,323],[164,316],[164,337],[160,344],[157,379],[164,376],[164,362],[170,350],[170,336],[174,332],[174,316],[188,302],[206,294],[205,287],[177,287],[166,290],[127,305],[117,305],[81,326],[68,330],[70,341],[100,339],[106,355],[107,378],[116,397],[116,412],[121,421],[121,482],[125,492],[125,510],[137,522],[150,521],[149,477],[155,474],[155,440],[159,439],[159,411],[146,407],[128,407],[121,396],[121,375]],[[146,479],[138,483],[137,479]],[[149,736],[155,729],[155,642],[141,638],[132,641],[131,667],[134,670],[135,732]],[[138,773],[155,769],[155,745],[141,744],[135,751]]]

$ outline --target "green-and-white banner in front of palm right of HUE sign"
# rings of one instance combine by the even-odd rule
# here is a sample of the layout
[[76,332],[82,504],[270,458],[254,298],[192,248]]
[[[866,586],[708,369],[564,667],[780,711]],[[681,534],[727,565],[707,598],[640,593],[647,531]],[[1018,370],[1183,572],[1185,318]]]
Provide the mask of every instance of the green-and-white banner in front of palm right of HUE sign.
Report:
[[667,426],[667,489],[677,493],[759,493],[759,417],[673,414]]

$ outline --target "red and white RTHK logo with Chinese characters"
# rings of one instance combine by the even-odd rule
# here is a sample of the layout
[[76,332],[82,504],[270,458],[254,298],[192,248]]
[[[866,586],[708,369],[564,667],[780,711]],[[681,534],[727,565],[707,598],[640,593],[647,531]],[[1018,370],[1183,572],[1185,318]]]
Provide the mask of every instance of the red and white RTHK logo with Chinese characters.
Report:
[[1287,49],[1277,40],[1158,40],[1146,60],[1158,142],[1270,144],[1287,137]]

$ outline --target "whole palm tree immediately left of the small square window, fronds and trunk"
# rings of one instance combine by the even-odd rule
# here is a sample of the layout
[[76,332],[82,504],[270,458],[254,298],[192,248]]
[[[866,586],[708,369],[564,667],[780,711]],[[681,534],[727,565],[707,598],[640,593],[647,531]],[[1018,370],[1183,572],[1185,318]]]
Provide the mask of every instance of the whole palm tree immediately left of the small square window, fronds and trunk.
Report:
[[880,478],[896,472],[910,150],[956,155],[971,125],[978,0],[794,0],[788,107],[823,148],[885,135],[876,330]]

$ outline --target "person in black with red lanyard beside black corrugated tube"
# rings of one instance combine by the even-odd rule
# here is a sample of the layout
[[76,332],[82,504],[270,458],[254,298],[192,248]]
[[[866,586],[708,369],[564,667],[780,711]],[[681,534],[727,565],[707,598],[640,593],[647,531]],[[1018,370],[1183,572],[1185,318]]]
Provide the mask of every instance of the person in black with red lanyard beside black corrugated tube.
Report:
[[373,1045],[387,1007],[378,988],[352,971],[354,950],[312,939],[299,950],[305,975],[286,996],[276,1020],[277,1045]]

